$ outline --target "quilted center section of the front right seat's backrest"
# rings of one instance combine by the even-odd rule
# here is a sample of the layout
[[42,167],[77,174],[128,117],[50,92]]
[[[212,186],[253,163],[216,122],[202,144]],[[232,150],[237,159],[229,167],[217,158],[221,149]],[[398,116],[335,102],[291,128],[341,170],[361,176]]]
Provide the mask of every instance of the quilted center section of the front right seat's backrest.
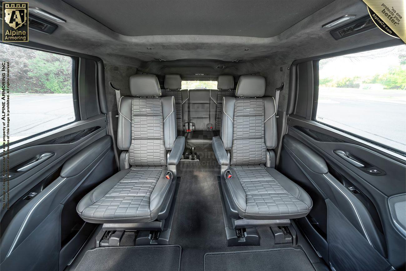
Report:
[[262,98],[235,98],[231,165],[266,162],[264,116]]

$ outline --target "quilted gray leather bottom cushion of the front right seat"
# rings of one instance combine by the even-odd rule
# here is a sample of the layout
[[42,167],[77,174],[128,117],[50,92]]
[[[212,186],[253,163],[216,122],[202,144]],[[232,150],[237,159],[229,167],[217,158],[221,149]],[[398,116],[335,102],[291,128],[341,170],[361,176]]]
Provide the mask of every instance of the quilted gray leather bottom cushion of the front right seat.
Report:
[[233,166],[226,179],[238,213],[249,219],[291,219],[307,215],[309,195],[273,168]]

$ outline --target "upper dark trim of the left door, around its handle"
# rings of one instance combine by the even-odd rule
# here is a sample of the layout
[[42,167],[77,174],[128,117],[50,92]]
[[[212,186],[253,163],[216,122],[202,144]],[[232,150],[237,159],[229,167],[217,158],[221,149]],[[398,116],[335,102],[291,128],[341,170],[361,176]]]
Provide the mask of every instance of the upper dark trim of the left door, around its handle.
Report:
[[[86,129],[91,129],[91,133],[81,133]],[[65,137],[72,134],[76,136]],[[17,200],[31,193],[30,189],[43,181],[45,177],[57,171],[69,157],[106,134],[106,116],[100,114],[88,120],[73,123],[69,127],[62,127],[51,135],[45,134],[29,143],[23,144],[24,142],[21,142],[22,144],[19,146],[11,146],[13,148],[10,150],[9,158],[11,175],[9,187],[12,196],[9,198],[9,211],[13,212],[13,204]],[[69,143],[52,144],[52,141],[58,142],[62,139],[64,142]],[[72,140],[73,142],[70,142]],[[51,142],[51,144],[48,142]],[[51,153],[52,156],[30,170],[17,171],[18,168],[21,168],[19,165],[43,153]],[[2,160],[3,157],[0,158],[1,164]],[[6,212],[8,212],[7,209],[0,210],[1,219]]]

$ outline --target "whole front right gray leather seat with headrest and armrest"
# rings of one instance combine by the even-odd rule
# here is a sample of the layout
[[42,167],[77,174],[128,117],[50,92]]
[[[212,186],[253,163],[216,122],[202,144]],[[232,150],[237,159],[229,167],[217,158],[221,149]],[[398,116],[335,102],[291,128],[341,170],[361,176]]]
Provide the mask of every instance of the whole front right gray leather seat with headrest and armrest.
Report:
[[213,149],[238,215],[246,219],[304,217],[312,208],[309,195],[272,168],[276,147],[275,103],[263,97],[265,78],[243,75],[236,96],[223,98],[220,137]]

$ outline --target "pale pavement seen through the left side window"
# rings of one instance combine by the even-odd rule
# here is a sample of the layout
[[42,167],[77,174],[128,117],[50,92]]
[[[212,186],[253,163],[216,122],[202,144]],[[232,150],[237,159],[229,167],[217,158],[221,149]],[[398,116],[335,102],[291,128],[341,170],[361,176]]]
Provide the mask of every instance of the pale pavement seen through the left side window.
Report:
[[71,94],[10,95],[11,141],[70,123],[74,119]]

